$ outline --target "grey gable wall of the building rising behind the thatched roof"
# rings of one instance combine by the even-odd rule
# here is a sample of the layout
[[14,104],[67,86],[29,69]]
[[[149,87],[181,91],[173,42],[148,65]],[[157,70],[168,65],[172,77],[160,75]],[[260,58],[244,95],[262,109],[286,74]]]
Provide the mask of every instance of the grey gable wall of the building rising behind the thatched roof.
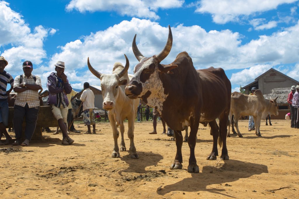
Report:
[[259,89],[263,92],[263,94],[272,93],[272,89],[274,88],[291,88],[291,86],[297,85],[295,81],[292,81],[291,79],[273,70],[260,77],[258,82]]

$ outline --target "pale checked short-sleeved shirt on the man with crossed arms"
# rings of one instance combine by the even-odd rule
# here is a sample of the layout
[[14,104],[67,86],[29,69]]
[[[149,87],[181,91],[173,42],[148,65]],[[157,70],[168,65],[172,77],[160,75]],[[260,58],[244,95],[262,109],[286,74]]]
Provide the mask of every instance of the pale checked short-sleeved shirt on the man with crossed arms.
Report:
[[[21,83],[37,84],[40,87],[42,87],[40,77],[37,75],[35,75],[35,77],[36,81],[34,81],[32,75],[30,75],[30,77],[27,78],[27,76],[23,74],[22,82],[20,82],[20,75],[18,75],[15,78],[15,83],[13,84],[13,87],[19,87]],[[28,104],[29,108],[39,107],[38,90],[25,90],[24,92],[19,92],[17,94],[15,105],[25,107],[26,104]]]

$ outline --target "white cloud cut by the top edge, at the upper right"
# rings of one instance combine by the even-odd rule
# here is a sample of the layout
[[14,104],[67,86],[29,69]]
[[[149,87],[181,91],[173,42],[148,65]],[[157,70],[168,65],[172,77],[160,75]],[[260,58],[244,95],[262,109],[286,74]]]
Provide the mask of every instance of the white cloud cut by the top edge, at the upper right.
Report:
[[297,0],[200,0],[195,12],[210,13],[217,24],[239,21],[242,16],[276,9],[280,4]]

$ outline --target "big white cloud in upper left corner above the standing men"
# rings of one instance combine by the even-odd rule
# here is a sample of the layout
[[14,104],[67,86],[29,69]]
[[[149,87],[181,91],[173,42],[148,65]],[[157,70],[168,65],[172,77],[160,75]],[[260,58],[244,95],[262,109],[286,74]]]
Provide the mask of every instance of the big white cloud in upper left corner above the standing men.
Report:
[[13,75],[20,73],[16,69],[22,70],[22,62],[25,60],[32,61],[33,67],[36,67],[46,56],[43,41],[49,29],[37,26],[31,32],[22,16],[11,10],[5,1],[0,1],[0,10],[0,46],[4,48],[1,56],[8,61],[5,70]]

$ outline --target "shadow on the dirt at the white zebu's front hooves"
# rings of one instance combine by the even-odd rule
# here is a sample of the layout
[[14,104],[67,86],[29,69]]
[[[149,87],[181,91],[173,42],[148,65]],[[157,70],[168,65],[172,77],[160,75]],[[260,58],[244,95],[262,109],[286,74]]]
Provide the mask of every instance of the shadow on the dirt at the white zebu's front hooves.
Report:
[[[129,164],[129,167],[118,172],[119,175],[122,175],[122,172],[126,173],[147,173],[151,170],[145,170],[148,166],[155,166],[159,161],[163,159],[163,156],[157,153],[151,152],[137,152],[139,159],[130,158],[129,154],[121,156],[120,159]],[[158,169],[157,169],[158,171]]]

